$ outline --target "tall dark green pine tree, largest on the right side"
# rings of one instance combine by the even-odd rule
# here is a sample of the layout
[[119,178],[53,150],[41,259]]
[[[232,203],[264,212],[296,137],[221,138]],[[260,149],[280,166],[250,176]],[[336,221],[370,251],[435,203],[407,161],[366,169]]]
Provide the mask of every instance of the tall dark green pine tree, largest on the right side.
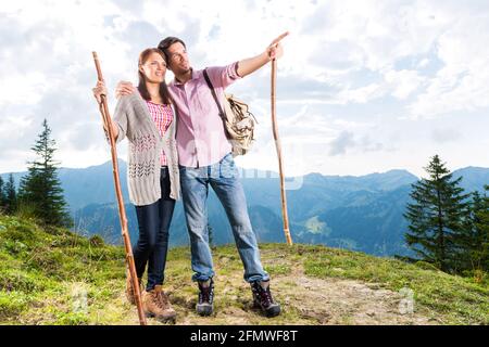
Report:
[[459,187],[462,177],[452,174],[435,155],[425,168],[427,179],[414,183],[404,217],[410,222],[406,244],[421,260],[443,271],[456,270],[456,235],[464,232],[468,219],[468,194]]

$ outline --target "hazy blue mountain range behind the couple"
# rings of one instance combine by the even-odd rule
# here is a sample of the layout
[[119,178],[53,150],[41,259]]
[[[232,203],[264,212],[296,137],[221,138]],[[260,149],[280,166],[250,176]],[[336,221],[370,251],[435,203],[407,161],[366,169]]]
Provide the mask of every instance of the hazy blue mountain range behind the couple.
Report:
[[[137,239],[137,219],[126,183],[126,163],[118,162],[121,183],[131,240]],[[275,172],[241,170],[249,214],[259,242],[285,242],[278,176]],[[18,183],[25,172],[14,174]],[[8,174],[3,174],[5,179]],[[463,177],[467,192],[482,191],[489,183],[489,168],[466,167],[453,171]],[[121,243],[118,211],[112,163],[83,169],[60,168],[59,178],[74,216],[74,229],[83,234],[101,234],[110,243]],[[323,176],[309,174],[286,179],[297,185],[287,191],[289,224],[296,243],[324,244],[377,256],[409,255],[404,245],[408,223],[402,214],[411,184],[418,178],[406,170],[366,176]],[[300,184],[299,184],[300,183]],[[213,243],[233,243],[224,208],[210,190],[209,224]],[[177,202],[171,227],[171,245],[188,244],[181,202]]]

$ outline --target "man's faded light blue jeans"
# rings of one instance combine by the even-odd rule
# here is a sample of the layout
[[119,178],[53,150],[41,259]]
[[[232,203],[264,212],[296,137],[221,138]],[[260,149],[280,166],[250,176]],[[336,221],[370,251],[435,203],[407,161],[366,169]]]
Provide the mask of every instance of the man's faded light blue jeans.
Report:
[[236,246],[244,266],[244,281],[267,281],[263,270],[256,236],[248,216],[244,191],[231,154],[221,162],[199,168],[180,166],[181,196],[192,254],[193,281],[214,277],[208,233],[209,185],[226,210]]

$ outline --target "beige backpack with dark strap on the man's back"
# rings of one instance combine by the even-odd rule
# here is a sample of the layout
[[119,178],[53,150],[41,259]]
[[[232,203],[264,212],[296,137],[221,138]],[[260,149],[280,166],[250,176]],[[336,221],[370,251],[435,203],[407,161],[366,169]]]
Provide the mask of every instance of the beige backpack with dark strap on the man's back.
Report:
[[254,141],[253,132],[254,125],[258,124],[256,118],[249,111],[248,104],[233,94],[224,94],[223,111],[206,69],[203,70],[203,75],[220,110],[220,116],[223,119],[227,139],[233,145],[233,156],[247,154],[251,150]]

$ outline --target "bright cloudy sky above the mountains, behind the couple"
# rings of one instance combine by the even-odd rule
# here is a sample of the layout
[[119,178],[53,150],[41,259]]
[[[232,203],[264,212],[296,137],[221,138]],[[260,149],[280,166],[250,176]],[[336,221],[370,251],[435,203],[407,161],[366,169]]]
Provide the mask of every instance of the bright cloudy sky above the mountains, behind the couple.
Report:
[[[92,51],[113,111],[117,81],[136,82],[139,52],[166,36],[200,69],[260,54],[286,30],[276,93],[287,176],[422,176],[435,154],[450,169],[489,167],[487,0],[0,0],[0,172],[26,170],[43,118],[61,166],[110,160]],[[259,121],[237,164],[277,171],[269,75],[268,64],[228,92]],[[125,159],[127,143],[117,150]]]

